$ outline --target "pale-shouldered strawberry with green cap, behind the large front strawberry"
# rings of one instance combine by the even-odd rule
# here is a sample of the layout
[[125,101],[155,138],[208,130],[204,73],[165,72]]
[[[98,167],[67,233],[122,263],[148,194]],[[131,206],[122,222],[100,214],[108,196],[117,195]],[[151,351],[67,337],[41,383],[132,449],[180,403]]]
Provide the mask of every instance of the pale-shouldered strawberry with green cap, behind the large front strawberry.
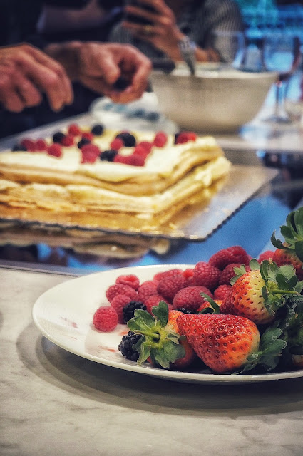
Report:
[[250,318],[256,324],[269,323],[277,310],[286,304],[289,295],[298,295],[302,284],[291,266],[278,267],[269,261],[250,261],[251,271],[235,276],[230,293],[220,312]]

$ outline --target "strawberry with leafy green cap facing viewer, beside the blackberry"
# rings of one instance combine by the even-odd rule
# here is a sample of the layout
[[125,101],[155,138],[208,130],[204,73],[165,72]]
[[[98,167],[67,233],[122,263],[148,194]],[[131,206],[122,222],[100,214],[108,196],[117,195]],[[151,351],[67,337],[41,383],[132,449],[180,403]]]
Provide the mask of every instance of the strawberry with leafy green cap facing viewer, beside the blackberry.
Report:
[[167,369],[189,366],[195,353],[185,337],[176,332],[176,321],[181,314],[169,311],[164,301],[153,307],[153,316],[142,309],[135,310],[135,316],[127,324],[130,331],[143,336],[135,345],[139,353],[138,364],[148,360]]

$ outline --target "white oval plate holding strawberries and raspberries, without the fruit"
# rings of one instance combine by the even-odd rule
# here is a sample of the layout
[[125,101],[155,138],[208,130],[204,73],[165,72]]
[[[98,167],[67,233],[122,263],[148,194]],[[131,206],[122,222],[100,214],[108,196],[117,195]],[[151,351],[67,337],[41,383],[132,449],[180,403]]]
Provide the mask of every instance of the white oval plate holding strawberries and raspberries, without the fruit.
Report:
[[168,269],[187,269],[190,264],[138,266],[112,269],[71,279],[43,293],[34,304],[33,318],[43,336],[65,350],[91,361],[153,377],[185,383],[252,383],[303,376],[303,371],[258,375],[222,375],[207,371],[190,373],[166,371],[146,364],[138,366],[118,351],[125,325],[103,333],[92,326],[93,314],[99,306],[108,305],[106,289],[124,274],[135,274],[140,281],[152,279],[154,274]]

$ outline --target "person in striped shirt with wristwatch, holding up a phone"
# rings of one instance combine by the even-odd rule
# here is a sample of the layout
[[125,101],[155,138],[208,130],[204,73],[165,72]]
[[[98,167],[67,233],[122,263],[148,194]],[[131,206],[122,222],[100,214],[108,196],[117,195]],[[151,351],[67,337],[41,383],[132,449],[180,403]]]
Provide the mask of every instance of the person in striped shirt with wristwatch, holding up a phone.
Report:
[[133,44],[152,59],[173,61],[183,60],[185,43],[197,61],[207,62],[224,60],[214,46],[216,32],[243,30],[240,9],[232,0],[128,0],[125,17],[109,40]]

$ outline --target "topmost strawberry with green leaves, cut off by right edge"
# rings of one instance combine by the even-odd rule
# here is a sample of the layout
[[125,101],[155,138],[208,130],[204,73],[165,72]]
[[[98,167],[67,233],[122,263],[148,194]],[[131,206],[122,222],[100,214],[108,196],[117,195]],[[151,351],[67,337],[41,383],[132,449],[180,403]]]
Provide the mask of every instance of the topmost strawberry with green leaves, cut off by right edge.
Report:
[[290,212],[286,225],[280,227],[284,242],[272,234],[271,241],[277,250],[274,252],[273,261],[278,266],[292,264],[296,269],[299,280],[303,279],[303,207]]

